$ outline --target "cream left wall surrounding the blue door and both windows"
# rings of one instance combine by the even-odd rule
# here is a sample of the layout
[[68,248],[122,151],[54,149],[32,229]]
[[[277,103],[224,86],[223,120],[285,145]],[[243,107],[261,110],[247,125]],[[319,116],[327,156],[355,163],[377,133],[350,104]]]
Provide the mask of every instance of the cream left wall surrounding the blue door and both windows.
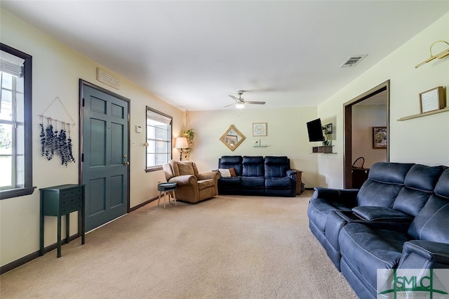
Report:
[[[69,121],[70,117],[74,119],[76,125],[71,129],[71,135],[76,162],[78,162],[79,154],[79,79],[89,81],[130,99],[130,140],[135,140],[136,143],[135,147],[130,148],[131,207],[156,197],[157,181],[165,180],[162,171],[145,173],[145,147],[143,144],[145,142],[146,105],[173,116],[174,134],[177,134],[183,125],[183,112],[123,77],[120,77],[119,90],[100,83],[95,79],[96,68],[102,67],[98,63],[76,53],[4,11],[1,11],[0,17],[1,42],[33,57],[32,147],[33,185],[36,186],[32,195],[0,201],[0,263],[3,266],[39,250],[39,188],[78,182],[78,163],[65,167],[60,165],[58,159],[47,161],[40,155],[39,123],[41,120],[38,114],[43,113],[56,97],[60,98],[69,116],[58,104],[58,101],[48,109],[46,115],[51,114],[48,116],[66,121]],[[105,69],[105,67],[102,68]],[[135,125],[142,126],[143,132],[135,133]],[[76,234],[76,213],[73,215],[70,218],[70,233]],[[56,228],[56,218],[46,217],[46,246],[56,242]],[[62,232],[65,232],[64,227]],[[63,235],[63,237],[65,236]]]

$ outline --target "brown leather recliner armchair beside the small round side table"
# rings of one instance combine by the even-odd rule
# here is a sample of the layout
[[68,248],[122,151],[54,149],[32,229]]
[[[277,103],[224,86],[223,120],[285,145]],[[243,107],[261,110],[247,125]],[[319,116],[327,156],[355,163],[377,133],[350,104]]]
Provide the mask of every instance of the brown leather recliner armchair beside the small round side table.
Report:
[[199,173],[196,164],[192,161],[171,160],[163,164],[162,168],[167,182],[176,182],[177,200],[196,203],[218,194],[217,181],[220,173],[217,171]]

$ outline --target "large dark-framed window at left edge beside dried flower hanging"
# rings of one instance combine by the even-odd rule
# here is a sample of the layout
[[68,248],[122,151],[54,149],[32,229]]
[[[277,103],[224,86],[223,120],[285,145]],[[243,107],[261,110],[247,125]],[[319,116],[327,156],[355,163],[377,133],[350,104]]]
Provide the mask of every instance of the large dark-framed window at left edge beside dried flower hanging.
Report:
[[0,44],[0,198],[32,194],[32,57]]

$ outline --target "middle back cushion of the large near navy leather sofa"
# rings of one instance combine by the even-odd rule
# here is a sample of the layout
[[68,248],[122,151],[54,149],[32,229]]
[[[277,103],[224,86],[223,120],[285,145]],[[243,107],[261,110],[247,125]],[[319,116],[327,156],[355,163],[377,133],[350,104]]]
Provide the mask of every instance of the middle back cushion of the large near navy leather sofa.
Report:
[[416,216],[434,192],[436,182],[445,166],[413,165],[406,175],[404,187],[394,201],[393,208]]

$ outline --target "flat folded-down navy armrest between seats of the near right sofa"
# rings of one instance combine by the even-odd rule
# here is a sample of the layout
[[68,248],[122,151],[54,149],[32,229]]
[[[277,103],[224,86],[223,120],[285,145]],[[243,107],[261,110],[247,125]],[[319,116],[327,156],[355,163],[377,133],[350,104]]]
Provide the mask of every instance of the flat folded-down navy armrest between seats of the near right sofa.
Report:
[[374,222],[411,223],[413,217],[384,206],[356,206],[352,211],[361,219]]

